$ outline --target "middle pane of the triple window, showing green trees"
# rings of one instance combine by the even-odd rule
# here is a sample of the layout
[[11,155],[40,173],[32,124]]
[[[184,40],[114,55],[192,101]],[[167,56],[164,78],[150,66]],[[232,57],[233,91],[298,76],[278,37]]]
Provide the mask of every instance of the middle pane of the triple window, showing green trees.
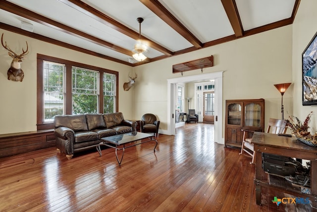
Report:
[[98,113],[99,72],[72,68],[73,114]]

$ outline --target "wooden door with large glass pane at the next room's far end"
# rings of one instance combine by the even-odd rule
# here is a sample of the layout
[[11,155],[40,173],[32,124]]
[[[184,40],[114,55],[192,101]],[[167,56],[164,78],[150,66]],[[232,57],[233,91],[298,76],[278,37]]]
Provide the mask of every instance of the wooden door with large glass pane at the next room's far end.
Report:
[[203,122],[214,122],[214,92],[204,92]]

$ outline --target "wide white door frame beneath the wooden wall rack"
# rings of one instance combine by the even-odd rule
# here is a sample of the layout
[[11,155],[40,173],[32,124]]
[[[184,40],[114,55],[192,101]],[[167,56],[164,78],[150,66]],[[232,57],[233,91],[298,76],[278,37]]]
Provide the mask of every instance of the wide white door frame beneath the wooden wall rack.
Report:
[[224,144],[224,139],[222,139],[222,73],[223,71],[218,71],[167,79],[167,135],[175,135],[175,85],[177,83],[199,82],[214,79],[214,141]]

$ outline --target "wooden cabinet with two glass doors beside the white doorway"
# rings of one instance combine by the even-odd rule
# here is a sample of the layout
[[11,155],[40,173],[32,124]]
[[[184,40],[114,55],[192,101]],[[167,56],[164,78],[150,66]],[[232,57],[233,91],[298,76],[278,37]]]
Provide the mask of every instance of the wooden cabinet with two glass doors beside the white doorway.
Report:
[[225,146],[241,147],[243,132],[248,130],[247,138],[252,132],[264,132],[264,99],[226,100]]

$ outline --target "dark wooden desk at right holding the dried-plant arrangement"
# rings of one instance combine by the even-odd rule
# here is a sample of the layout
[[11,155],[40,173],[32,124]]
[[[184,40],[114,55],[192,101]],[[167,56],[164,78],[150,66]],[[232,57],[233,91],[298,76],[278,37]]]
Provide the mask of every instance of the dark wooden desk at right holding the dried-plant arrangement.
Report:
[[[309,198],[312,201],[312,211],[317,211],[317,148],[297,141],[295,137],[278,136],[276,134],[255,132],[252,143],[256,150],[256,185],[257,205],[261,205],[262,187],[282,191],[296,197]],[[267,174],[262,169],[262,152],[277,154],[287,157],[295,157],[311,161],[311,194],[303,194],[298,189],[272,185],[267,181]],[[278,197],[279,198],[279,197]]]

